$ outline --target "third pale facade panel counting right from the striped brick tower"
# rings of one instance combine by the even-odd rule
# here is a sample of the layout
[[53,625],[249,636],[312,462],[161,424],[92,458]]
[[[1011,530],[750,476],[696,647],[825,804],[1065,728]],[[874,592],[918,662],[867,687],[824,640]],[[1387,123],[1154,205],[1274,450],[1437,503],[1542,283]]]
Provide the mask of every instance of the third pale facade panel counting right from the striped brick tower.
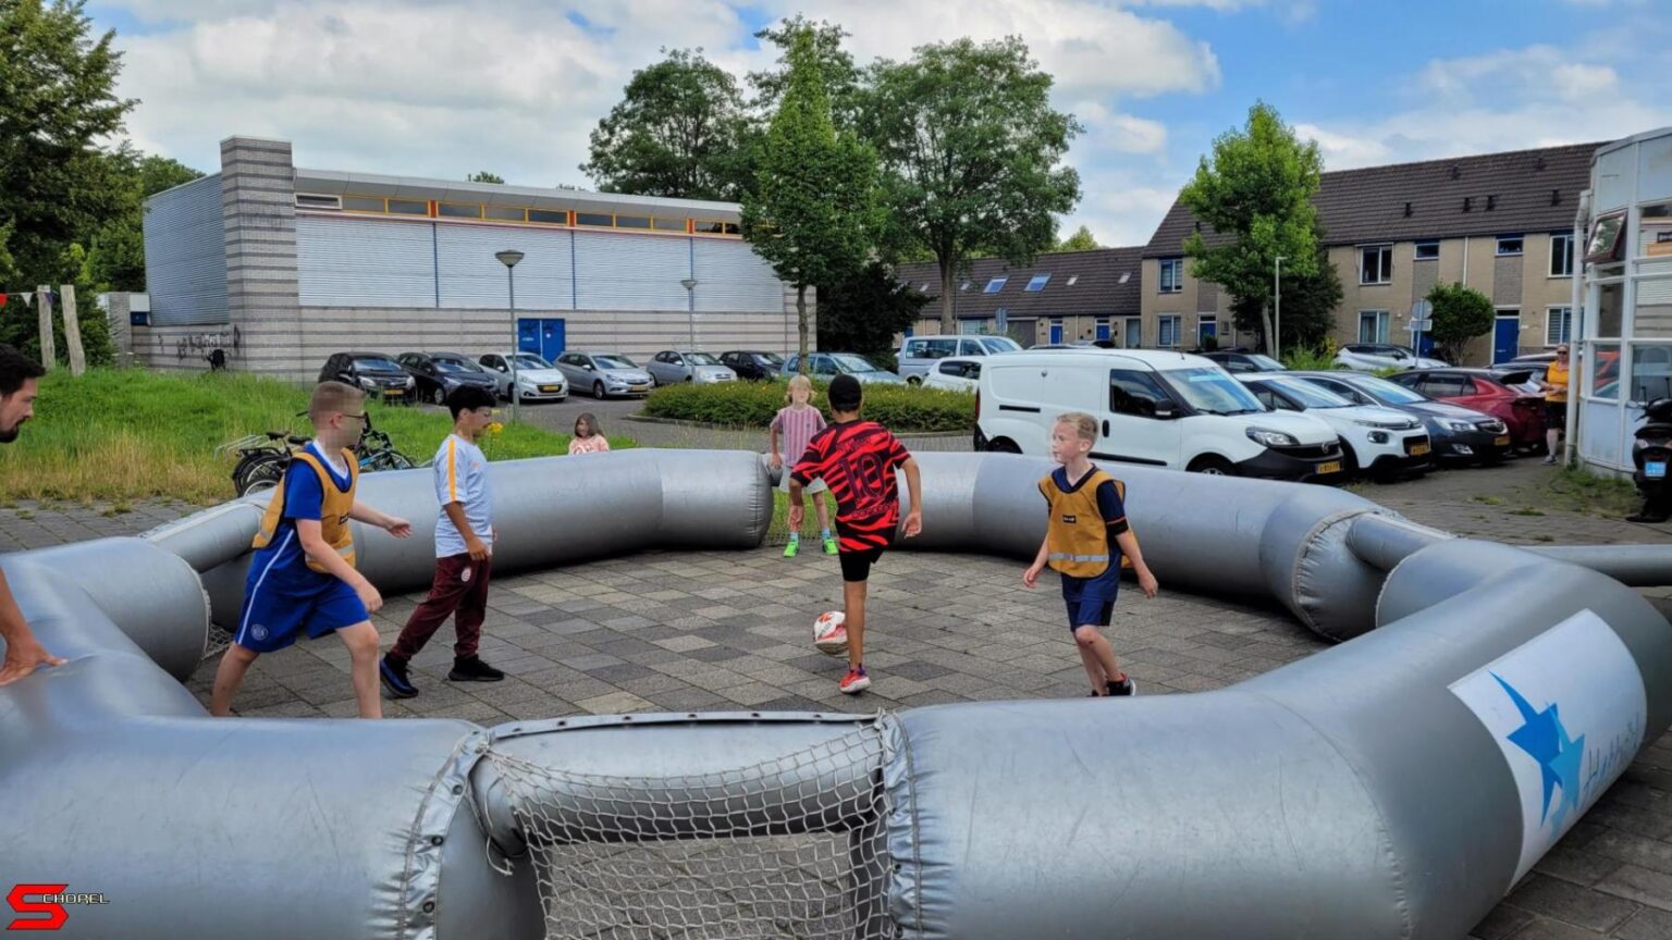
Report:
[[575,308],[687,309],[691,241],[577,231]]

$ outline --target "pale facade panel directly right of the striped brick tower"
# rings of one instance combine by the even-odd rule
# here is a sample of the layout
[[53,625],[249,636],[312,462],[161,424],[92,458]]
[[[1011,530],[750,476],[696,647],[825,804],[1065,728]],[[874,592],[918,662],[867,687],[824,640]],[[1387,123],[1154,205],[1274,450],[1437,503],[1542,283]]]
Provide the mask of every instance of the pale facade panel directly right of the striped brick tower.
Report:
[[296,219],[301,306],[435,306],[435,226]]

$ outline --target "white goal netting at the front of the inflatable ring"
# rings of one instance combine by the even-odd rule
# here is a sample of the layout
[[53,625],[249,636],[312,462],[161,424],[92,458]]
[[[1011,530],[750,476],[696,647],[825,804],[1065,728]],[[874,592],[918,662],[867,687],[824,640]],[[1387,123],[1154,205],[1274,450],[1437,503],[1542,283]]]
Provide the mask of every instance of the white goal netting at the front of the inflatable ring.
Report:
[[528,841],[548,940],[895,937],[876,728],[702,776],[488,759]]

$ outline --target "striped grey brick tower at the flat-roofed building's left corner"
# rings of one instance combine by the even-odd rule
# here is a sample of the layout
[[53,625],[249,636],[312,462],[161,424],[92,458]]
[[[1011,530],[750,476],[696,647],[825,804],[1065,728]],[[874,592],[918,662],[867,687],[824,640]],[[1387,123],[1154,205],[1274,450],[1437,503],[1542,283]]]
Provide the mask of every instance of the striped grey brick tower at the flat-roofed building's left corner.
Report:
[[[239,330],[234,368],[276,376],[311,370],[296,303],[296,169],[284,140],[221,142],[226,288]],[[229,355],[232,350],[227,350]],[[318,370],[318,363],[311,363]]]

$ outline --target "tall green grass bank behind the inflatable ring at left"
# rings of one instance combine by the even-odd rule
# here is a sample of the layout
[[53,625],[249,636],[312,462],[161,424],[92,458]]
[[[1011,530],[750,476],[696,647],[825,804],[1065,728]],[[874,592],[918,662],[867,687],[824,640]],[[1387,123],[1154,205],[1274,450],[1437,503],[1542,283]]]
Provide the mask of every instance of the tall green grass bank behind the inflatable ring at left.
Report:
[[[8,500],[112,502],[179,498],[212,505],[232,497],[237,455],[226,442],[266,430],[311,435],[308,388],[249,375],[172,376],[142,370],[54,371],[40,385],[35,420],[0,447],[0,493]],[[453,427],[445,413],[370,406],[373,427],[425,462]],[[610,438],[610,447],[634,447]],[[507,427],[483,442],[490,460],[568,452],[568,435]]]

